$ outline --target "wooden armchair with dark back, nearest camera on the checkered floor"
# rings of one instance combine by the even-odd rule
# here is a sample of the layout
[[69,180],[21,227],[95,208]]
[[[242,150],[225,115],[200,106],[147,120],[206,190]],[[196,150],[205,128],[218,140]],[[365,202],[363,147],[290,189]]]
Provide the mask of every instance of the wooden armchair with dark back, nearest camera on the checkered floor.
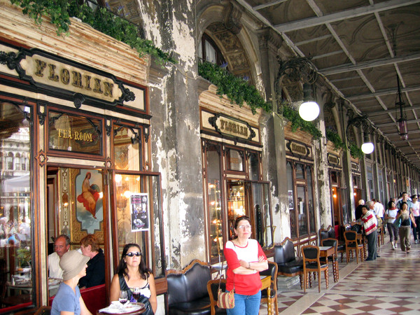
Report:
[[318,246],[307,245],[302,247],[302,257],[303,257],[303,292],[306,293],[306,288],[308,285],[309,277],[309,286],[312,286],[311,276],[309,272],[316,272],[318,274],[318,292],[321,292],[321,271],[325,275],[325,286],[328,288],[328,265],[321,265],[319,260],[319,248]]

